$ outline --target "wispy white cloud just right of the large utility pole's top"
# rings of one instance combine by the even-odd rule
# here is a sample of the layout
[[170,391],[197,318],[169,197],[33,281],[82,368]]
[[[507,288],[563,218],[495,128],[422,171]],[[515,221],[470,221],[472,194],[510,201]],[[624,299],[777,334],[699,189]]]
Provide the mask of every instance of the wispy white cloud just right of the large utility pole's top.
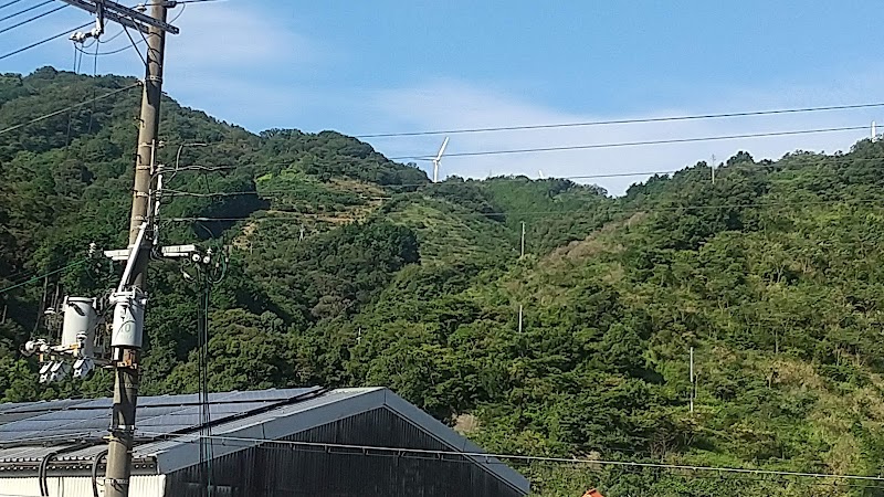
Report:
[[307,39],[249,2],[203,3],[186,10],[167,40],[164,89],[182,105],[249,129],[281,118],[297,123],[313,89],[292,80],[327,70],[333,50]]

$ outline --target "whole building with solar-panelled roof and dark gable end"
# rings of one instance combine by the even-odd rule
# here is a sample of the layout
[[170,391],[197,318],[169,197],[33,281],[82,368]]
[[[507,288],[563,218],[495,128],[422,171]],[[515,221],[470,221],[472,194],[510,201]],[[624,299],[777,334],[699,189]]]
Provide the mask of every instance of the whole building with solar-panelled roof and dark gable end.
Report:
[[[527,479],[388,389],[138,400],[133,497],[501,496]],[[0,404],[0,495],[103,495],[110,399]],[[200,436],[202,434],[202,436]]]

